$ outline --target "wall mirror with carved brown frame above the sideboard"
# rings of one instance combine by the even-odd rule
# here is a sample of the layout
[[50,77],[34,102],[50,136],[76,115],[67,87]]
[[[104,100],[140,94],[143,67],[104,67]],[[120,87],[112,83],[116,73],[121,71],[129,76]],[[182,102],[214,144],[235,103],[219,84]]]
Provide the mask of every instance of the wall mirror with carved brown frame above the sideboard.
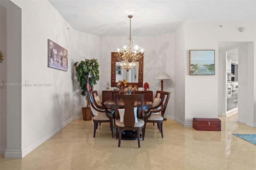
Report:
[[111,53],[111,87],[116,87],[119,80],[126,79],[127,86],[138,85],[143,87],[143,55],[136,62],[134,69],[126,71],[121,69],[120,63],[122,59],[118,57],[118,52]]

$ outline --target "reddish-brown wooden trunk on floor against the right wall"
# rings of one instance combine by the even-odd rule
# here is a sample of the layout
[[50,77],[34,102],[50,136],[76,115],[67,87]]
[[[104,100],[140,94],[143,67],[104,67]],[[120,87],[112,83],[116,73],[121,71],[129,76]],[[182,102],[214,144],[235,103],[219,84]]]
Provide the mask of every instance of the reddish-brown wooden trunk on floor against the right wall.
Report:
[[221,121],[218,118],[193,118],[193,128],[204,131],[221,131]]

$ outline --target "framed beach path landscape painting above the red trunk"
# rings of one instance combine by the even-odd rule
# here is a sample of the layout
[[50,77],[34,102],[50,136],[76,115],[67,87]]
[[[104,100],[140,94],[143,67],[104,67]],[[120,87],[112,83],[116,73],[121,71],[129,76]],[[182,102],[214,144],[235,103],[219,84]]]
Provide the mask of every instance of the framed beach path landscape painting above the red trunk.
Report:
[[215,50],[189,50],[189,75],[215,75]]

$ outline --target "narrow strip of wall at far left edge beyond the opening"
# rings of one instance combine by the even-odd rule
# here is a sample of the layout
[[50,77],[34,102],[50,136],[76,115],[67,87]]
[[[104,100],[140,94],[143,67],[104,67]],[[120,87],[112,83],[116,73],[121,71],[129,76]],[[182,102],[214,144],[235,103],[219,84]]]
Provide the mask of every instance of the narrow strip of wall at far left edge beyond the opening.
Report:
[[[0,63],[0,80],[7,83],[7,11],[0,6],[0,50],[4,61]],[[0,87],[0,154],[4,154],[7,145],[7,87]]]

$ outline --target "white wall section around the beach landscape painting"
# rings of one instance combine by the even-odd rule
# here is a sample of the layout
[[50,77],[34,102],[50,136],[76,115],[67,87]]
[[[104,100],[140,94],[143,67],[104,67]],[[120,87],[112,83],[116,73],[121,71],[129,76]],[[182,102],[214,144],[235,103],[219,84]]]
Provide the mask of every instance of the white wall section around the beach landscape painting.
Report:
[[[239,31],[241,26],[246,28],[246,32]],[[218,67],[220,67],[218,65],[218,42],[254,42],[256,38],[255,22],[186,22],[185,35],[185,119],[186,123],[191,123],[192,126],[193,117],[218,117]],[[215,50],[215,75],[189,75],[190,49]],[[252,67],[254,66],[247,68],[247,73],[252,73]],[[250,75],[250,78],[253,77]],[[249,90],[253,91],[253,89]],[[240,96],[239,100],[241,100]],[[251,104],[250,107],[253,108],[253,105]],[[239,109],[239,112],[243,112],[243,110]],[[253,112],[248,114],[253,114]]]

